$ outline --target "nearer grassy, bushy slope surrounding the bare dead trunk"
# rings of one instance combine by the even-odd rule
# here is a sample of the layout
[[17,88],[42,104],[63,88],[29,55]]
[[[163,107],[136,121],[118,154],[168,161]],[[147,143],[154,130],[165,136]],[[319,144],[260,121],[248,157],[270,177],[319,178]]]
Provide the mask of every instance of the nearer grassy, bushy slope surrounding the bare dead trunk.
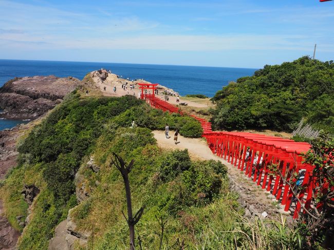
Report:
[[[110,126],[92,152],[100,171],[95,173],[84,165],[79,170],[92,191],[72,210],[71,218],[81,232],[89,232],[94,223],[94,248],[128,247],[128,228],[122,216],[126,210],[124,185],[119,171],[109,166],[112,152],[127,162],[134,159],[129,181],[134,209],[145,205],[136,224],[142,249],[159,249],[161,228],[156,217],[166,221],[162,249],[180,249],[175,248],[177,239],[184,240],[189,249],[301,248],[298,232],[286,225],[254,223],[240,215],[237,196],[228,189],[227,168],[220,162],[192,161],[187,150],[162,150],[152,144],[152,134],[146,134],[145,146],[141,140],[133,143],[127,139],[119,147],[119,140],[124,134],[130,138],[129,133],[134,139],[141,132]],[[89,237],[89,247],[91,243]]]

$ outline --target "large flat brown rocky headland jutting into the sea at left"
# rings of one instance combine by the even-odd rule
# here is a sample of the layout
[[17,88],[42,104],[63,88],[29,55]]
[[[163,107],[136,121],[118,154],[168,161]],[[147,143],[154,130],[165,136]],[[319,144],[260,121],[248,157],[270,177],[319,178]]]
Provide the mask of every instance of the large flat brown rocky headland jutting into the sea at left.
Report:
[[15,78],[0,88],[0,118],[36,119],[61,102],[81,82],[72,78],[27,76]]

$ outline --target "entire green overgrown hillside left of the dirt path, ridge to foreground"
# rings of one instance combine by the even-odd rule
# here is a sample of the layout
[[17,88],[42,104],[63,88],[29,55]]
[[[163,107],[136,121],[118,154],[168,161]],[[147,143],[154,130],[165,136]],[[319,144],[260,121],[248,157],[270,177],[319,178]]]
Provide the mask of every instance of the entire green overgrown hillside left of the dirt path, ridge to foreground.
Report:
[[[131,127],[133,120],[137,126]],[[18,165],[0,185],[6,217],[23,231],[17,248],[47,249],[55,227],[70,218],[65,233],[77,239],[75,249],[128,249],[124,184],[110,164],[114,152],[134,160],[129,182],[134,211],[145,206],[136,225],[142,249],[302,247],[298,230],[243,217],[219,161],[193,161],[187,150],[159,148],[151,129],[165,123],[185,137],[202,133],[194,119],[132,96],[67,97],[21,141]]]

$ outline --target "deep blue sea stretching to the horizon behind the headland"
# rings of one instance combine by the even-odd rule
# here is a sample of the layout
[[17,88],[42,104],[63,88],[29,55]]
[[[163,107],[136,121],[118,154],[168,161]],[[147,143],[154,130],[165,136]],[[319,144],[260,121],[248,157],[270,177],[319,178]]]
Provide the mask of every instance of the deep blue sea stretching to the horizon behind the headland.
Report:
[[[0,87],[15,77],[33,75],[74,76],[80,80],[90,71],[100,68],[122,75],[122,78],[144,79],[159,83],[185,94],[205,94],[213,97],[231,81],[247,75],[253,75],[257,69],[221,68],[199,66],[123,64],[123,63],[88,63],[0,60]],[[6,122],[6,124],[5,124]],[[0,120],[0,130],[15,126],[18,121]]]

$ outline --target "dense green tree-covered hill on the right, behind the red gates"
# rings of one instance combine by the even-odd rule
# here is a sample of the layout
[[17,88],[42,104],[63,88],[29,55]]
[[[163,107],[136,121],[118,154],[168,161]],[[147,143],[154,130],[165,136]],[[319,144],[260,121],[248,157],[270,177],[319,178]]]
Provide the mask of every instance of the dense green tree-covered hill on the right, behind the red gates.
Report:
[[314,128],[334,132],[334,64],[308,56],[266,65],[217,91],[212,101],[218,129],[291,131],[306,118]]

